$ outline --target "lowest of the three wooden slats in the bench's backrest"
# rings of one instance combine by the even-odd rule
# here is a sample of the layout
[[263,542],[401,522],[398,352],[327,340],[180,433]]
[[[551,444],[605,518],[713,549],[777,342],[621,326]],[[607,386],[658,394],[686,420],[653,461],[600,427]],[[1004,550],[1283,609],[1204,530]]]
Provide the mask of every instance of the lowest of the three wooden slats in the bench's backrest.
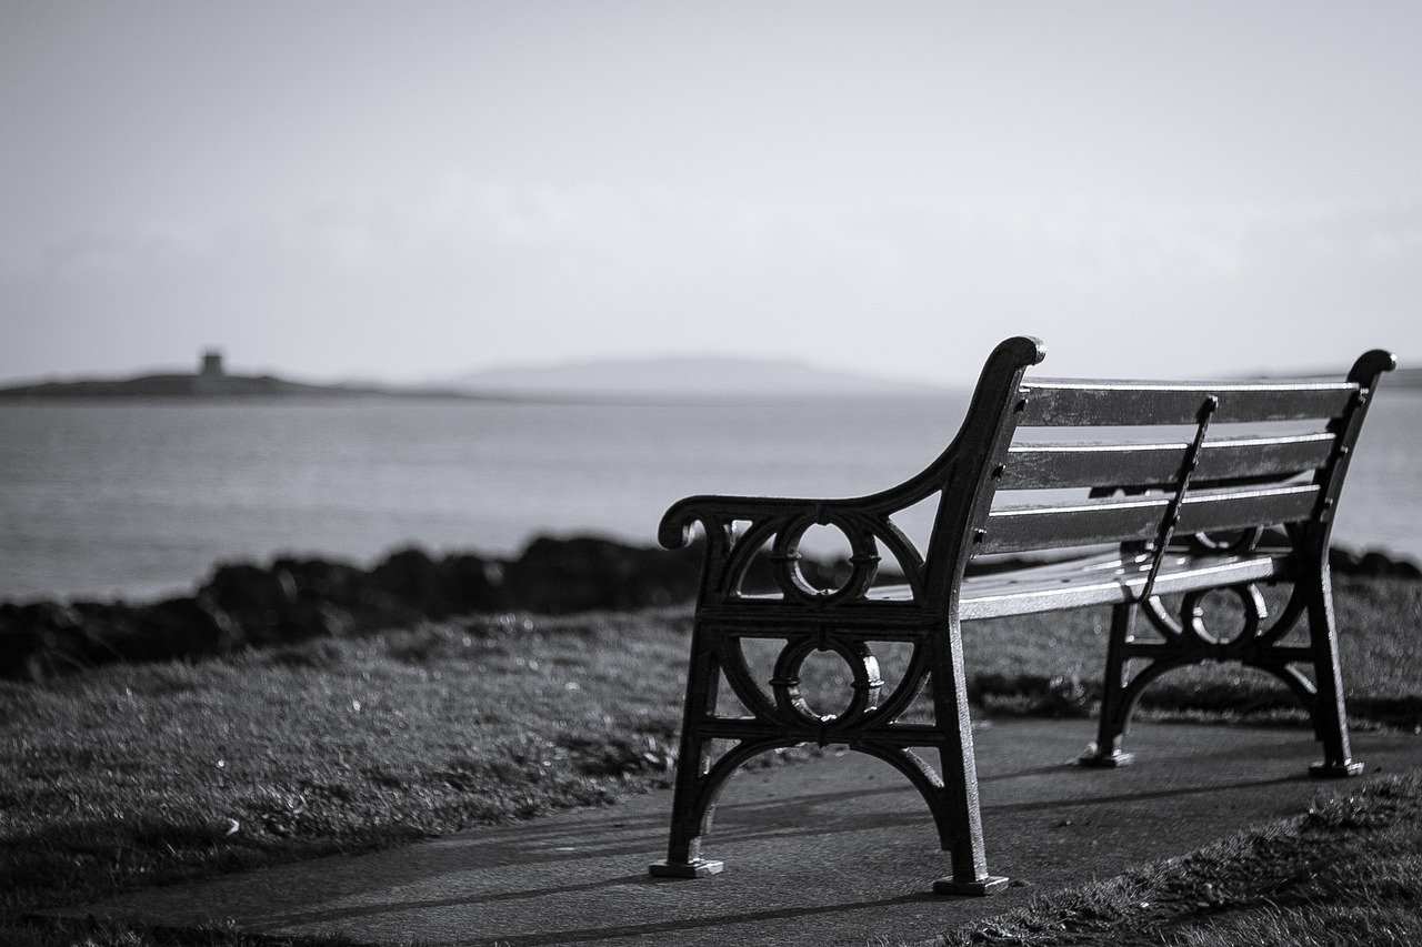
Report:
[[[1307,519],[1317,501],[1318,488],[1311,483],[1190,493],[1180,505],[1176,532],[1291,523]],[[1014,553],[1155,539],[1169,506],[1169,496],[1156,495],[994,509],[977,550]]]

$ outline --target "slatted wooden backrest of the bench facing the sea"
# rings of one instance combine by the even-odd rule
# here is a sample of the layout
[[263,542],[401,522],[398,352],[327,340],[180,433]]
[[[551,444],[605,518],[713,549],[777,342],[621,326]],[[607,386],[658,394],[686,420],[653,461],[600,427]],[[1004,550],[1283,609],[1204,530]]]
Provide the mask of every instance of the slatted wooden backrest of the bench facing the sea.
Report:
[[[1000,351],[1028,344],[1035,363],[1037,340],[1010,340]],[[994,385],[991,364],[980,395]],[[1025,380],[1018,370],[1005,410],[978,397],[983,417],[970,411],[964,425],[993,434],[970,448],[983,451],[984,465],[961,510],[963,559],[1103,543],[1163,547],[1276,525],[1291,529],[1295,545],[1322,550],[1371,392],[1392,365],[1391,354],[1369,351],[1342,380],[1258,382]],[[951,529],[940,519],[943,526]]]

